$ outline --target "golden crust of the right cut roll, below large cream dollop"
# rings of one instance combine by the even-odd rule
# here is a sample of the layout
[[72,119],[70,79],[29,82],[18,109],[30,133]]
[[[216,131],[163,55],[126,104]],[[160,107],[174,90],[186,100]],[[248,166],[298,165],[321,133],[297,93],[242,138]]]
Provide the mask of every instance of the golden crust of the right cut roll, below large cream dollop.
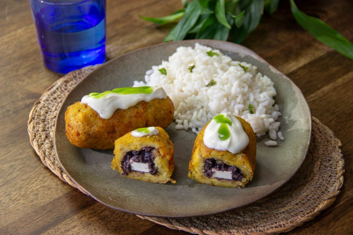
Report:
[[[199,183],[229,188],[244,187],[245,184],[252,179],[255,171],[256,136],[248,122],[243,118],[235,117],[240,121],[241,125],[243,125],[245,133],[249,136],[249,144],[240,153],[236,154],[206,147],[203,143],[203,136],[209,124],[208,122],[196,137],[191,160],[189,162],[189,178],[195,179]],[[242,181],[217,179],[214,177],[208,178],[204,175],[204,164],[205,160],[210,158],[221,160],[227,165],[237,167],[245,178],[243,178]]]

